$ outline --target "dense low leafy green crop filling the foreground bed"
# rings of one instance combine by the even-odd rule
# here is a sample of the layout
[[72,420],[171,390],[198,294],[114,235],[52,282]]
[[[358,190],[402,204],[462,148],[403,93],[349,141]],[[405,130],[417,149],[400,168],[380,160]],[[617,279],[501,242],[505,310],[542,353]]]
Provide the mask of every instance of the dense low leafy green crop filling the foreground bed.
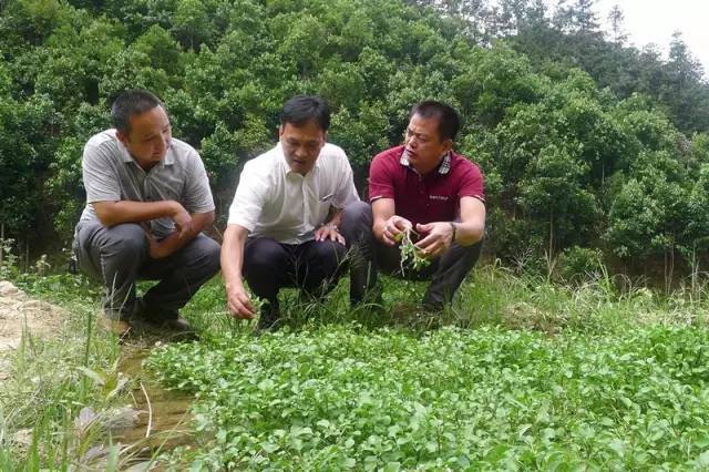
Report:
[[705,329],[227,332],[147,367],[197,396],[193,470],[709,465]]

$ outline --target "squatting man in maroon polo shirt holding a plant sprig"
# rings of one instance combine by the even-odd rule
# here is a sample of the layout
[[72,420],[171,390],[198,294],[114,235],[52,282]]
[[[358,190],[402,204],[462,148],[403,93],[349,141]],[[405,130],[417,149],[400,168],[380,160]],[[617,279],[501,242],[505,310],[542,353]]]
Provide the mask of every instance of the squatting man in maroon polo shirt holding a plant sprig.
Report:
[[[342,232],[350,246],[350,299],[361,302],[377,271],[430,279],[423,307],[441,310],[451,301],[480,256],[485,228],[483,177],[475,164],[452,151],[460,119],[451,106],[421,102],[410,115],[404,144],[374,156],[369,204],[345,208]],[[407,229],[431,264],[401,269],[398,242]]]

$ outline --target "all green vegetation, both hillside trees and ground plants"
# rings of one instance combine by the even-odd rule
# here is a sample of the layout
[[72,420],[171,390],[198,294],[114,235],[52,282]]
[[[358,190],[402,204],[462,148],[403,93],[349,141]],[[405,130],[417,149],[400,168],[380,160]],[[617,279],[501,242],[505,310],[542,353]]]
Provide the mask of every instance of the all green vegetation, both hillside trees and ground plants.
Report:
[[[680,37],[668,60],[637,51],[621,12],[604,38],[592,3],[2,2],[0,279],[69,320],[9,358],[0,469],[81,469],[103,444],[91,466],[113,470],[140,449],[102,427],[140,382],[96,329],[99,288],[48,275],[61,255],[29,263],[68,246],[83,144],[134,86],[163,96],[175,136],[201,151],[220,215],[290,95],[330,101],[358,184],[412,104],[448,101],[464,117],[458,148],[485,173],[495,260],[440,316],[401,302],[419,284],[391,279],[382,307],[351,311],[342,280],[323,305],[289,293],[285,328],[259,338],[213,280],[184,310],[202,340],[147,361],[196,396],[194,444],[154,451],[164,464],[709,468],[709,86]],[[666,294],[609,261],[648,275],[659,263]]]

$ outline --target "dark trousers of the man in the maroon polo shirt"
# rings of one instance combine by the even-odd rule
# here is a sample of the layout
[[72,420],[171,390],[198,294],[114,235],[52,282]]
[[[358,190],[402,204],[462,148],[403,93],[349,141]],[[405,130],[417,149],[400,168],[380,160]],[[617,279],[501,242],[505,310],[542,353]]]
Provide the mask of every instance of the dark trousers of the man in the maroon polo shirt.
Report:
[[372,208],[364,202],[348,205],[342,213],[340,228],[350,252],[350,300],[359,304],[377,285],[377,273],[413,279],[431,280],[423,296],[423,305],[442,309],[450,304],[465,276],[480,257],[482,242],[471,246],[453,244],[441,257],[419,270],[404,266],[401,270],[399,246],[387,246],[372,233]]

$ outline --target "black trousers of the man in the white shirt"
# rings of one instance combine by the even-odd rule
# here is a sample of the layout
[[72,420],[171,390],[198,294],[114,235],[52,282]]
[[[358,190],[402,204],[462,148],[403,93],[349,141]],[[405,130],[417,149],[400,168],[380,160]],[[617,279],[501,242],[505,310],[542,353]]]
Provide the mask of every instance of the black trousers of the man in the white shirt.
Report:
[[259,298],[278,305],[278,291],[291,287],[319,298],[337,285],[345,269],[346,247],[331,240],[282,244],[267,237],[246,240],[244,277]]

